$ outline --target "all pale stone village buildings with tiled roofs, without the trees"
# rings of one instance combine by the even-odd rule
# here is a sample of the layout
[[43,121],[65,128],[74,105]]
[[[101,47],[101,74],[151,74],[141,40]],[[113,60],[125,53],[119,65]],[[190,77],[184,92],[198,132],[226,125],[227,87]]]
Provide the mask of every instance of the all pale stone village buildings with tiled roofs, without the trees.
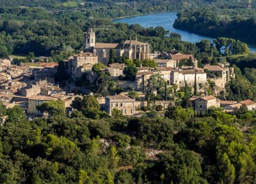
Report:
[[[108,63],[110,51],[113,50],[116,57],[125,56],[131,60],[151,59],[155,61],[156,67],[137,67],[133,89],[139,93],[144,91],[148,79],[155,74],[161,75],[169,87],[175,86],[174,90],[184,87],[185,83],[190,86],[194,84],[206,86],[209,82],[214,82],[220,90],[224,90],[226,83],[231,78],[235,78],[234,68],[224,66],[224,64],[198,67],[194,55],[182,54],[175,50],[150,53],[150,45],[137,41],[137,37],[135,40],[131,38],[123,43],[96,43],[95,39],[95,33],[89,29],[84,34],[83,51],[63,61],[64,70],[70,75],[70,78],[76,79],[86,74],[87,80],[93,83],[97,74],[92,71],[92,67],[97,63],[108,65],[102,71],[116,79],[124,75],[124,68],[127,67],[124,63]],[[42,116],[44,112],[37,110],[37,105],[51,100],[63,101],[67,113],[70,112],[72,100],[77,95],[66,93],[65,89],[55,84],[54,75],[57,72],[58,63],[48,63],[47,57],[41,57],[41,59],[44,62],[21,63],[21,66],[12,65],[12,58],[0,59],[0,101],[6,108],[12,108],[14,105],[21,106],[28,117]],[[184,59],[189,60],[193,66],[180,66],[180,62]],[[101,108],[110,115],[114,108],[119,109],[124,115],[132,116],[136,114],[136,110],[152,106],[152,104],[148,104],[150,102],[136,101],[125,93],[98,98],[98,101]],[[256,109],[255,102],[250,100],[220,101],[214,96],[206,95],[205,97],[192,97],[190,101],[194,110],[199,113],[206,112],[212,106],[223,106],[226,112],[239,109],[242,105],[246,105],[249,110]],[[170,101],[155,101],[154,105],[162,106],[165,109],[170,103]]]

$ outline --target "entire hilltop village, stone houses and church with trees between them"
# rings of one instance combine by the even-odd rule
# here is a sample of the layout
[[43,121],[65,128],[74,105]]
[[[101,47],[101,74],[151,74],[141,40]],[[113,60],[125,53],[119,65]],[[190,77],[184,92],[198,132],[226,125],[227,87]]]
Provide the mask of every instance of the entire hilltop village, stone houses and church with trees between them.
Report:
[[[83,98],[82,93],[90,93],[97,97],[101,110],[112,114],[114,109],[120,110],[125,116],[139,116],[149,109],[166,109],[170,104],[175,106],[174,93],[189,98],[189,103],[198,113],[204,113],[211,107],[223,107],[226,112],[233,112],[242,105],[249,110],[256,109],[256,103],[246,101],[221,101],[215,95],[225,90],[231,78],[235,78],[234,68],[228,63],[215,65],[205,64],[198,67],[194,55],[186,55],[171,49],[170,52],[150,53],[150,44],[130,38],[123,43],[97,43],[93,29],[84,34],[83,51],[63,60],[63,70],[75,81],[82,79],[87,86],[106,85],[106,79],[98,83],[100,72],[112,77],[116,87],[122,89],[119,94],[93,93],[86,86],[79,87],[81,93],[73,93],[78,89],[74,83],[60,87],[55,83],[58,63],[49,63],[42,57],[39,66],[12,65],[12,59],[2,59],[0,73],[0,101],[6,108],[20,106],[28,118],[47,116],[38,108],[42,102],[63,101],[66,113],[74,110],[74,99]],[[116,61],[121,58],[124,62]],[[133,62],[134,61],[134,62]],[[137,62],[135,64],[135,62]],[[212,95],[208,95],[209,86],[215,86]],[[108,88],[109,86],[105,86]],[[159,93],[163,89],[162,93]],[[188,91],[194,95],[189,95]],[[106,89],[107,90],[107,89]],[[6,117],[2,117],[2,122]]]

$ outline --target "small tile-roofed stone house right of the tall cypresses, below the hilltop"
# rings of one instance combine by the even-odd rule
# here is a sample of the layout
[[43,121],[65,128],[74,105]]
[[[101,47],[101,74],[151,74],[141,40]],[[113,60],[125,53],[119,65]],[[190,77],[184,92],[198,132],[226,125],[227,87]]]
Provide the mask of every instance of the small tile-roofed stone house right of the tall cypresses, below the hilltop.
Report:
[[213,95],[206,97],[192,97],[190,98],[190,101],[192,101],[194,111],[198,113],[204,113],[210,107],[220,107],[220,100]]

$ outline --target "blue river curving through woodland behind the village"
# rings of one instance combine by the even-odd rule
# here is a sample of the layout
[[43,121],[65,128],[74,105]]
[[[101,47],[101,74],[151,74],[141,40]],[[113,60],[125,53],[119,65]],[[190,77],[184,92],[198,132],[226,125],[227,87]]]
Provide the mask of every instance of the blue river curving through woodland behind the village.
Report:
[[[181,39],[183,41],[190,41],[192,43],[200,42],[202,39],[208,39],[211,42],[213,38],[201,36],[188,32],[186,30],[180,30],[173,28],[175,19],[177,18],[177,12],[167,12],[167,13],[155,13],[148,14],[145,16],[127,17],[113,20],[113,22],[124,22],[128,24],[140,24],[145,28],[163,26],[163,28],[170,30],[170,32],[175,32],[181,34]],[[249,45],[250,51],[256,52],[256,46]]]

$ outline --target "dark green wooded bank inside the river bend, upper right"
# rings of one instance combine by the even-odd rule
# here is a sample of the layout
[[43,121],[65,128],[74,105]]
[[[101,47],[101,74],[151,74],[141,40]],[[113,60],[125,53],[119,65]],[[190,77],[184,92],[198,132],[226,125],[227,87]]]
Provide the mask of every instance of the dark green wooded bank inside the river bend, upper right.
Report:
[[209,37],[229,37],[256,44],[255,9],[188,9],[180,11],[174,28]]

